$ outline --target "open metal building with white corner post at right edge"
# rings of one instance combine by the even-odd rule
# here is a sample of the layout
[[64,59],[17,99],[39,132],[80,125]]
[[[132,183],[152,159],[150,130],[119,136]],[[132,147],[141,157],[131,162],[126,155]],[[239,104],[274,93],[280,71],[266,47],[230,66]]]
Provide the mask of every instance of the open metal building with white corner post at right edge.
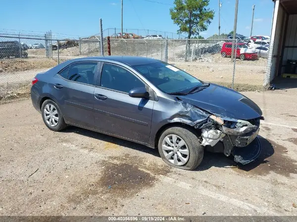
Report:
[[297,87],[294,75],[283,78],[288,72],[297,74],[297,63],[294,64],[297,61],[297,0],[272,1],[274,11],[264,85],[281,82]]

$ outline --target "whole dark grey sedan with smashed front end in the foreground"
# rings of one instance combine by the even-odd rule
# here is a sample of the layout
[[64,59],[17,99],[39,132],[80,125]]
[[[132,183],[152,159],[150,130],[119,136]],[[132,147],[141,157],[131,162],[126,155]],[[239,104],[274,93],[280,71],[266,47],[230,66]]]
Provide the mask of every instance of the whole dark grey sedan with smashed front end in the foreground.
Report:
[[52,131],[73,125],[131,140],[184,170],[195,170],[204,150],[242,164],[261,150],[264,118],[252,100],[156,59],[68,60],[35,76],[31,99]]

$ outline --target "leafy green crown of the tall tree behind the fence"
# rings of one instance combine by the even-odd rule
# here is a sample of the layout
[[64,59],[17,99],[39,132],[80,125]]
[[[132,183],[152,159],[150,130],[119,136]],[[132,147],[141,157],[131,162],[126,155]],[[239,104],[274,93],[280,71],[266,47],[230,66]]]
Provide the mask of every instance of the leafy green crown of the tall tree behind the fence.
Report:
[[178,33],[199,35],[206,31],[214,16],[214,11],[207,8],[209,0],[174,0],[175,6],[170,8],[171,19],[179,26]]

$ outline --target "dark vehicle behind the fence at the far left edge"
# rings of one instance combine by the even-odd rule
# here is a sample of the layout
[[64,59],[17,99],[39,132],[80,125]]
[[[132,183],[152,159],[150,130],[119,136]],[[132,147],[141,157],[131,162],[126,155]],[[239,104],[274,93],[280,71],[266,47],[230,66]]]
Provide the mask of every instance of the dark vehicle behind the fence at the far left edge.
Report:
[[26,49],[18,41],[0,42],[0,58],[27,58]]

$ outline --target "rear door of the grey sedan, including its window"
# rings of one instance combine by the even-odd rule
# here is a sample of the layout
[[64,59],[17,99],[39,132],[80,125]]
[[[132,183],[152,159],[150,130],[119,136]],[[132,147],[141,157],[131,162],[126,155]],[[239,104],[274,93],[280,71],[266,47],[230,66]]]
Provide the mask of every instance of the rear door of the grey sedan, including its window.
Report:
[[53,79],[53,95],[64,119],[77,126],[95,128],[94,99],[98,62],[75,62]]

